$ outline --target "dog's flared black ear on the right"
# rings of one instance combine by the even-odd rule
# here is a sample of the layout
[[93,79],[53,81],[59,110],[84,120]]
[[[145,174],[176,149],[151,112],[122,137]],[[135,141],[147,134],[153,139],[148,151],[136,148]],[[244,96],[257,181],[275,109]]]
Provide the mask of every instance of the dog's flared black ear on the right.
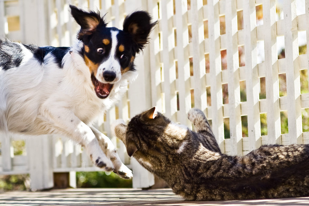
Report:
[[131,34],[138,46],[137,53],[145,48],[149,33],[156,23],[151,23],[151,17],[146,11],[136,11],[125,18],[123,31]]

